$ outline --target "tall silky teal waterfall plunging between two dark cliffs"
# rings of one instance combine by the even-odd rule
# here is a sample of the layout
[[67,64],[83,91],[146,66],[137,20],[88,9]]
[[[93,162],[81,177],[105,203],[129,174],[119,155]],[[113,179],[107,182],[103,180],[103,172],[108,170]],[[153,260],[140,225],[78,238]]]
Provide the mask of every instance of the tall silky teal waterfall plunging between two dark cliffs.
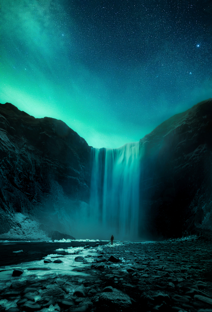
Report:
[[[139,207],[139,142],[91,150],[89,217],[115,239],[136,239]],[[96,225],[95,225],[96,224]]]

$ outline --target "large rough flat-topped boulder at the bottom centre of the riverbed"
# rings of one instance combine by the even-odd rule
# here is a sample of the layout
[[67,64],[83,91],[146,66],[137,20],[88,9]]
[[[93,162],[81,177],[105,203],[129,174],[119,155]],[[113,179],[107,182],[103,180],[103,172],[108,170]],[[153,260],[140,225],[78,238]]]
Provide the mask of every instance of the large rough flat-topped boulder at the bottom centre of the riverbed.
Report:
[[103,292],[99,296],[99,303],[106,305],[116,305],[119,308],[127,308],[132,302],[130,300],[130,296],[124,294],[121,290],[113,288],[111,292]]

